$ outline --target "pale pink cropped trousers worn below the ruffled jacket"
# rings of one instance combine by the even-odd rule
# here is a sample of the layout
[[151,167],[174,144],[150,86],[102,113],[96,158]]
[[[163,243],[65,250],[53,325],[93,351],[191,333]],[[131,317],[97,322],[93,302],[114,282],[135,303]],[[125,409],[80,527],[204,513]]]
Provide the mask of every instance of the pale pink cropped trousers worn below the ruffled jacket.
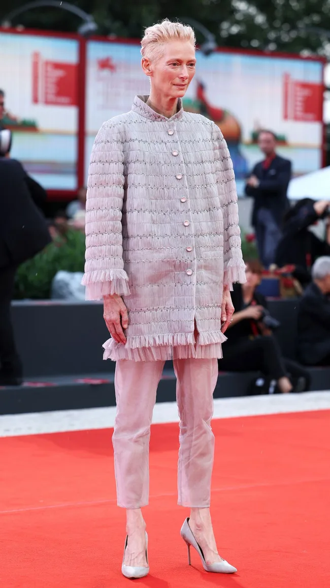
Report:
[[[180,416],[178,504],[210,506],[214,435],[211,430],[217,359],[173,360]],[[150,425],[163,361],[116,363],[117,414],[112,437],[117,503],[126,509],[149,500]]]

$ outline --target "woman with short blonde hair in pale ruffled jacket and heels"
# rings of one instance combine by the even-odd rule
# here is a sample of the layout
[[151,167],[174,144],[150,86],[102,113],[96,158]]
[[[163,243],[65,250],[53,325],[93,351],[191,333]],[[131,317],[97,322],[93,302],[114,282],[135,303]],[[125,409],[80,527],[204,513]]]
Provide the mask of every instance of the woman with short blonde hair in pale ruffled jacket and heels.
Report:
[[218,555],[211,524],[210,422],[234,311],[229,290],[245,273],[227,145],[213,122],[182,108],[195,65],[190,26],[166,20],[147,28],[142,69],[150,96],[136,96],[132,111],[103,124],[89,169],[83,283],[87,298],[104,300],[112,335],[104,357],[117,362],[113,446],[118,505],[127,513],[127,577],[149,570],[140,509],[148,503],[150,423],[167,359],[181,419],[179,504],[191,507],[181,534],[205,569],[236,571]]

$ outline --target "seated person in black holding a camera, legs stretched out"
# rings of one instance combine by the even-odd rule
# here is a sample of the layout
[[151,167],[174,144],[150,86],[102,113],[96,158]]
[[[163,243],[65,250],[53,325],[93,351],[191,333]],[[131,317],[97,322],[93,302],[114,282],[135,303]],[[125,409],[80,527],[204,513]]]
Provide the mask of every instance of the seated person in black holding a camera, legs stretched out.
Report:
[[[277,339],[264,322],[267,302],[264,296],[255,292],[261,282],[261,263],[248,261],[245,273],[246,283],[235,284],[231,293],[235,312],[226,332],[228,341],[223,346],[224,358],[218,362],[219,369],[228,372],[258,370],[276,380],[281,392],[307,390],[309,373],[298,363],[282,358]],[[295,386],[289,376],[297,380]]]

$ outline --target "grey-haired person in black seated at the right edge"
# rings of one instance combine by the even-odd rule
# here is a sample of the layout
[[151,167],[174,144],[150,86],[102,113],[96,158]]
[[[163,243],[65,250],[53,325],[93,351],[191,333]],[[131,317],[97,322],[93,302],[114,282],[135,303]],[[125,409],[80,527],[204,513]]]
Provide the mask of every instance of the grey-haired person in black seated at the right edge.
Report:
[[316,260],[312,279],[299,302],[298,353],[306,365],[330,366],[330,257]]

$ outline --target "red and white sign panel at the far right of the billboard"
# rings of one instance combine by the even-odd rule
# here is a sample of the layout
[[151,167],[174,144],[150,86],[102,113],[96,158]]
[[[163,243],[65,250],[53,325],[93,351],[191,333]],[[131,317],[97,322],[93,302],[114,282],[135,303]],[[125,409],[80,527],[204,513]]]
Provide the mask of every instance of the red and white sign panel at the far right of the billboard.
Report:
[[283,76],[284,119],[286,121],[322,122],[323,86],[299,82],[289,74]]

